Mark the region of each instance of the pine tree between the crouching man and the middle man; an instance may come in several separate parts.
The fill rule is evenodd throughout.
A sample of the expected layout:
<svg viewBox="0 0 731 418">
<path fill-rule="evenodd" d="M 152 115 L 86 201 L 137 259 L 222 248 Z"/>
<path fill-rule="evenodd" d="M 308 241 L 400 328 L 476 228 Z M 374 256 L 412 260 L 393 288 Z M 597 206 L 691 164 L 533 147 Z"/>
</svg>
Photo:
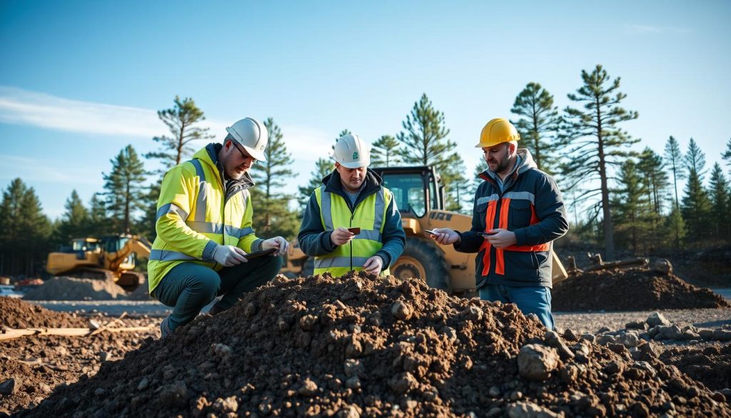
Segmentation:
<svg viewBox="0 0 731 418">
<path fill-rule="evenodd" d="M 298 231 L 297 213 L 289 210 L 292 196 L 277 193 L 291 181 L 292 156 L 281 129 L 272 118 L 264 121 L 269 131 L 269 143 L 265 149 L 265 161 L 251 168 L 251 176 L 257 186 L 251 189 L 251 204 L 254 206 L 254 228 L 260 236 L 285 236 L 293 238 Z"/>
</svg>

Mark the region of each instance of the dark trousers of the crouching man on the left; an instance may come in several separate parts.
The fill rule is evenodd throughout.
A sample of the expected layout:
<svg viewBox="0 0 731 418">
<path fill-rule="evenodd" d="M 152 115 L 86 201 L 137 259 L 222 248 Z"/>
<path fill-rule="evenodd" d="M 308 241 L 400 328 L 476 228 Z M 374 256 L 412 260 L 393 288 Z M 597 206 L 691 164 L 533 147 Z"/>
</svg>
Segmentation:
<svg viewBox="0 0 731 418">
<path fill-rule="evenodd" d="M 163 277 L 151 296 L 173 307 L 167 321 L 172 332 L 193 321 L 216 296 L 223 295 L 213 305 L 217 310 L 232 307 L 243 294 L 272 280 L 281 264 L 281 257 L 264 256 L 216 272 L 200 264 L 181 263 Z"/>
</svg>

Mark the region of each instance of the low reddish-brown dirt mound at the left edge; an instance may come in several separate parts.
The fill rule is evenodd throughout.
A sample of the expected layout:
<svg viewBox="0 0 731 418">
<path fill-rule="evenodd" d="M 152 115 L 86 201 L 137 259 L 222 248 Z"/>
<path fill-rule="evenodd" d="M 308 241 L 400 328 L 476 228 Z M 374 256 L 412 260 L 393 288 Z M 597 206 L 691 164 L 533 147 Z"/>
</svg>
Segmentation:
<svg viewBox="0 0 731 418">
<path fill-rule="evenodd" d="M 88 322 L 29 302 L 0 296 L 0 326 L 9 328 L 83 328 Z"/>
</svg>

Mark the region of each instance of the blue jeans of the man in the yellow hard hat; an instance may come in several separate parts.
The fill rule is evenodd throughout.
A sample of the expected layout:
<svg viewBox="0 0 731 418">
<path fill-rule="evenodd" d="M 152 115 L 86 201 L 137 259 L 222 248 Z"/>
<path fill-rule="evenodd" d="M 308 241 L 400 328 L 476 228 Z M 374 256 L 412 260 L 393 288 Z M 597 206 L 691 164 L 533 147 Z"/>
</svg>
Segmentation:
<svg viewBox="0 0 731 418">
<path fill-rule="evenodd" d="M 546 328 L 556 326 L 550 313 L 550 288 L 545 286 L 485 285 L 480 288 L 480 299 L 515 303 L 523 315 L 536 314 Z"/>
</svg>

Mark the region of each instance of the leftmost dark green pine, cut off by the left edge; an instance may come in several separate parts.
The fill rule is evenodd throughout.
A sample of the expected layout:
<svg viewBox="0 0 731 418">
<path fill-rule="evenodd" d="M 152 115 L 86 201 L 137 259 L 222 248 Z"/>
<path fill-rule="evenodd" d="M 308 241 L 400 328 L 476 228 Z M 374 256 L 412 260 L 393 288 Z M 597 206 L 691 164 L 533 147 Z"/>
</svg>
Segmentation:
<svg viewBox="0 0 731 418">
<path fill-rule="evenodd" d="M 37 275 L 50 250 L 51 228 L 33 187 L 12 180 L 0 204 L 0 274 Z"/>
</svg>

